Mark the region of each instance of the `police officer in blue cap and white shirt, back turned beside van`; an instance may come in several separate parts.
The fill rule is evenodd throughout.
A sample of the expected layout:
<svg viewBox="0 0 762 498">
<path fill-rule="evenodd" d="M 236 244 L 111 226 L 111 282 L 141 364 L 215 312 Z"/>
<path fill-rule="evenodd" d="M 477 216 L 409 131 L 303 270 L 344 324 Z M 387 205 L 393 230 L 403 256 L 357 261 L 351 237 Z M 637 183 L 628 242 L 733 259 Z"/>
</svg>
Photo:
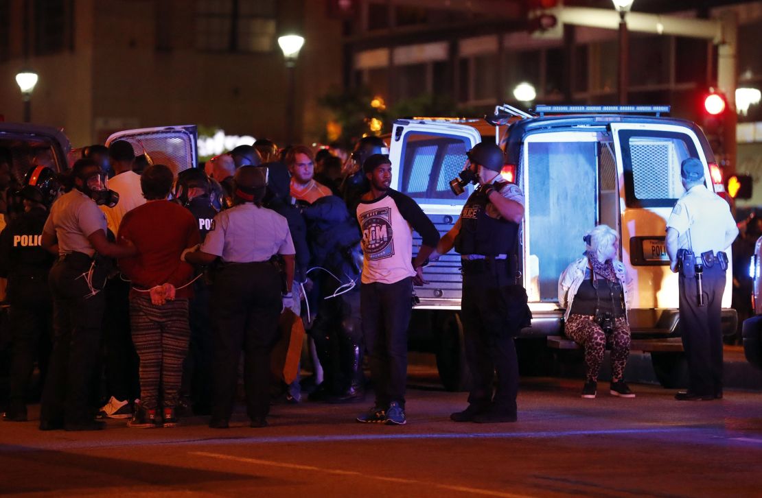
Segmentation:
<svg viewBox="0 0 762 498">
<path fill-rule="evenodd" d="M 725 200 L 706 188 L 704 165 L 687 158 L 680 165 L 686 192 L 667 220 L 670 268 L 679 272 L 680 330 L 688 360 L 688 390 L 678 401 L 722 398 L 722 292 L 728 257 L 738 235 Z"/>
</svg>

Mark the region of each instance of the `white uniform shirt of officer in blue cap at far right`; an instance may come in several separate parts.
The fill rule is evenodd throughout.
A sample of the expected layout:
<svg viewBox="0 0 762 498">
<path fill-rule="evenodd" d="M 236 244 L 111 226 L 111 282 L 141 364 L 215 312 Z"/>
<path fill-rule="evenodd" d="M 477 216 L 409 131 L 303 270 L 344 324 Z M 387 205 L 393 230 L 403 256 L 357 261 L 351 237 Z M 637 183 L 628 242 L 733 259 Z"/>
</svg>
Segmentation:
<svg viewBox="0 0 762 498">
<path fill-rule="evenodd" d="M 725 233 L 736 225 L 728 203 L 704 185 L 696 185 L 677 200 L 667 228 L 677 230 L 680 249 L 692 248 L 698 257 L 706 251 L 725 251 Z"/>
</svg>

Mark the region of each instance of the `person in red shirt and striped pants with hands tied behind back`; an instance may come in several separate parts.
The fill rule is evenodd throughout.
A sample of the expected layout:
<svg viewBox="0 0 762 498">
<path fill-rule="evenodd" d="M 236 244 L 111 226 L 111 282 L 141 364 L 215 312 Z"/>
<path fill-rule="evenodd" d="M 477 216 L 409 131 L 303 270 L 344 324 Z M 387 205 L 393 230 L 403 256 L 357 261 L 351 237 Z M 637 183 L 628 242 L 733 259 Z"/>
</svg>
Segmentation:
<svg viewBox="0 0 762 498">
<path fill-rule="evenodd" d="M 132 282 L 130 325 L 140 357 L 141 403 L 127 423 L 130 427 L 158 426 L 159 385 L 163 425 L 178 424 L 174 407 L 191 337 L 188 298 L 194 277 L 194 268 L 180 257 L 200 237 L 191 212 L 167 200 L 173 180 L 171 170 L 162 164 L 146 168 L 140 176 L 146 203 L 127 212 L 119 228 L 118 238 L 132 241 L 138 251 L 119 262 Z"/>
</svg>

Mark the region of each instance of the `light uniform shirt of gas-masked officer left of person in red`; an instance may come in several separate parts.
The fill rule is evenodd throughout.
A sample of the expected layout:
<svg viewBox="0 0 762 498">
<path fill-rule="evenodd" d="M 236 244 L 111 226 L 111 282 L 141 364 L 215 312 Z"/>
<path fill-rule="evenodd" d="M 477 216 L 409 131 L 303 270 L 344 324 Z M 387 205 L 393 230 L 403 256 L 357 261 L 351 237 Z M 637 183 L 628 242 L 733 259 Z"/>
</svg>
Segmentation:
<svg viewBox="0 0 762 498">
<path fill-rule="evenodd" d="M 92 257 L 95 249 L 88 236 L 106 231 L 106 215 L 98 204 L 77 189 L 63 194 L 53 203 L 43 233 L 58 238 L 59 254 L 80 252 Z"/>
</svg>

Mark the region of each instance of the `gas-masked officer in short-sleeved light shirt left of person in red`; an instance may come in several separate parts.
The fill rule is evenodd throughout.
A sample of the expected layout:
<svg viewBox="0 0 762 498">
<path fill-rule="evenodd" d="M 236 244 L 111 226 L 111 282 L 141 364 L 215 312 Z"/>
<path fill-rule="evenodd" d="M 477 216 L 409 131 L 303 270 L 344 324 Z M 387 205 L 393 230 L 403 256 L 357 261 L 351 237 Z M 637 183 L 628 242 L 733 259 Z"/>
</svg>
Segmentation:
<svg viewBox="0 0 762 498">
<path fill-rule="evenodd" d="M 96 264 L 136 253 L 129 241 L 106 238 L 106 216 L 98 205 L 114 206 L 118 194 L 108 190 L 105 174 L 92 159 L 72 168 L 75 188 L 50 208 L 42 244 L 58 260 L 48 281 L 53 294 L 53 353 L 40 408 L 40 429 L 95 430 L 91 379 L 100 346 L 107 273 Z"/>
</svg>

